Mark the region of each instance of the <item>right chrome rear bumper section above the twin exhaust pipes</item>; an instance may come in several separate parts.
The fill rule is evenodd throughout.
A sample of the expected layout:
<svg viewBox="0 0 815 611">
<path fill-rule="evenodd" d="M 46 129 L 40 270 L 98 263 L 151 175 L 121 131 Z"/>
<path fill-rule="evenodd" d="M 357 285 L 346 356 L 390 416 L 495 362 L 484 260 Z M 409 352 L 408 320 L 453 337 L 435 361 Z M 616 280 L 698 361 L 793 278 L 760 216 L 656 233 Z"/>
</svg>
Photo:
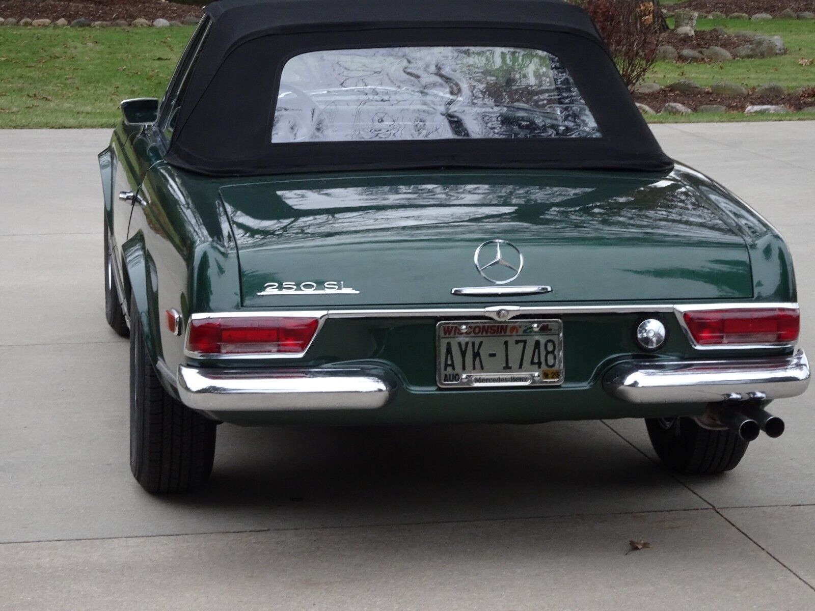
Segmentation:
<svg viewBox="0 0 815 611">
<path fill-rule="evenodd" d="M 804 350 L 793 356 L 718 361 L 628 361 L 606 373 L 603 387 L 631 403 L 711 403 L 796 397 L 809 385 Z"/>
</svg>

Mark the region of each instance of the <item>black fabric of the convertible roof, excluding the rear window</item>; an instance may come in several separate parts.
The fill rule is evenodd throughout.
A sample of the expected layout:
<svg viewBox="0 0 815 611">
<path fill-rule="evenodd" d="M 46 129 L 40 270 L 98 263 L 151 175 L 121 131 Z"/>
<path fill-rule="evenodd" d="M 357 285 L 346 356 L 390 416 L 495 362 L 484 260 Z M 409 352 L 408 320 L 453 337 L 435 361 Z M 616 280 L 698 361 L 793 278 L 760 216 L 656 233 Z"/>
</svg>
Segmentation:
<svg viewBox="0 0 815 611">
<path fill-rule="evenodd" d="M 430 167 L 672 168 L 592 20 L 562 0 L 219 0 L 166 155 L 199 174 Z M 271 143 L 286 61 L 377 46 L 504 45 L 548 51 L 571 73 L 602 138 Z"/>
</svg>

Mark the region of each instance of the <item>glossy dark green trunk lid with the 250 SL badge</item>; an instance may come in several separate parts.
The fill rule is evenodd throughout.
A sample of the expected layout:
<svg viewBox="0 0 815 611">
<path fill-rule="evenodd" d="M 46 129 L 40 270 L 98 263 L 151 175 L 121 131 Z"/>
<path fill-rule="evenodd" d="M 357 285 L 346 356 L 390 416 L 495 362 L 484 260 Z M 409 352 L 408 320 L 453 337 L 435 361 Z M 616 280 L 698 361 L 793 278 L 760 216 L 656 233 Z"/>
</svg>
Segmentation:
<svg viewBox="0 0 815 611">
<path fill-rule="evenodd" d="M 346 174 L 235 184 L 222 187 L 221 196 L 245 306 L 505 303 L 507 297 L 451 294 L 496 286 L 474 262 L 489 240 L 507 240 L 523 256 L 518 278 L 504 286 L 552 287 L 513 302 L 752 295 L 742 238 L 672 177 Z M 496 279 L 506 279 L 496 271 Z"/>
</svg>

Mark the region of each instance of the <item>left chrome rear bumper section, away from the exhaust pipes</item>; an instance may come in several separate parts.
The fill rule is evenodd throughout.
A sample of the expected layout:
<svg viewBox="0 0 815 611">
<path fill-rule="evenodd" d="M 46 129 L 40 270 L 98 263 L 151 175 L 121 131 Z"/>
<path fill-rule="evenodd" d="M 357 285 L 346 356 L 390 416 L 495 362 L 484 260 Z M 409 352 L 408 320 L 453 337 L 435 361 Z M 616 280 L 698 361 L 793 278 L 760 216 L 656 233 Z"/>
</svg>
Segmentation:
<svg viewBox="0 0 815 611">
<path fill-rule="evenodd" d="M 361 369 L 228 370 L 178 367 L 178 395 L 201 411 L 375 410 L 395 392 Z"/>
</svg>

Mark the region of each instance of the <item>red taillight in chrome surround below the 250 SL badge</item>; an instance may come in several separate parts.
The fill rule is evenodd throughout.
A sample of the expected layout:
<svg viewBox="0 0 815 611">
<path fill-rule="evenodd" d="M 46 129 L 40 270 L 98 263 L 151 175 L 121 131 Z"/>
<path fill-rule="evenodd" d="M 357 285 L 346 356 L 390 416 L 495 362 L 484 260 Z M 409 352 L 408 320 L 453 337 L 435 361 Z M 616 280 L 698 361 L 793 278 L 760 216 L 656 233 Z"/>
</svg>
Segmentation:
<svg viewBox="0 0 815 611">
<path fill-rule="evenodd" d="M 319 320 L 311 318 L 192 319 L 187 349 L 197 354 L 299 354 L 318 326 Z"/>
</svg>

